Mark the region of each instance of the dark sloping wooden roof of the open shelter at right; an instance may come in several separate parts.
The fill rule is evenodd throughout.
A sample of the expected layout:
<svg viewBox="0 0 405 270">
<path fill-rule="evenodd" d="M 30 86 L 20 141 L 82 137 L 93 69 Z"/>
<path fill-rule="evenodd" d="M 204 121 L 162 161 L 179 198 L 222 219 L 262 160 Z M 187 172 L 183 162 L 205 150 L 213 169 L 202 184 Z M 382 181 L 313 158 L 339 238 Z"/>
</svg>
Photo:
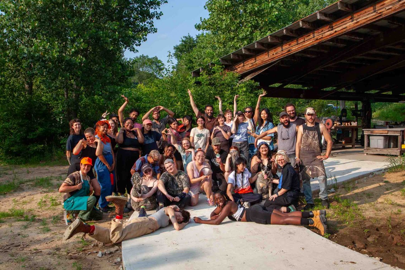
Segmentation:
<svg viewBox="0 0 405 270">
<path fill-rule="evenodd" d="M 220 63 L 271 97 L 404 101 L 405 1 L 341 0 Z"/>
</svg>

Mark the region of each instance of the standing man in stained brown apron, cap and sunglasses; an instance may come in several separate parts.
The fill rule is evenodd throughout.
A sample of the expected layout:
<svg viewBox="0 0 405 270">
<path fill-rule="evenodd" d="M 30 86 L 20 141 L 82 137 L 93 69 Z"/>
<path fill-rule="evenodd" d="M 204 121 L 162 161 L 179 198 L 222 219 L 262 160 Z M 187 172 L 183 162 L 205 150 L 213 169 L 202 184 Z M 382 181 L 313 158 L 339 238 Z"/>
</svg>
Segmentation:
<svg viewBox="0 0 405 270">
<path fill-rule="evenodd" d="M 326 182 L 326 172 L 324 160 L 328 159 L 332 151 L 332 138 L 326 130 L 324 124 L 315 122 L 316 113 L 311 107 L 305 110 L 306 124 L 298 127 L 297 143 L 295 152 L 297 155 L 296 163 L 301 164 L 300 178 L 303 181 L 305 200 L 307 205 L 304 210 L 311 210 L 313 203 L 311 178 L 317 178 L 319 181 L 319 197 L 322 200 L 322 206 L 328 208 L 328 188 Z M 324 136 L 328 145 L 325 155 L 322 155 L 322 136 Z"/>
</svg>

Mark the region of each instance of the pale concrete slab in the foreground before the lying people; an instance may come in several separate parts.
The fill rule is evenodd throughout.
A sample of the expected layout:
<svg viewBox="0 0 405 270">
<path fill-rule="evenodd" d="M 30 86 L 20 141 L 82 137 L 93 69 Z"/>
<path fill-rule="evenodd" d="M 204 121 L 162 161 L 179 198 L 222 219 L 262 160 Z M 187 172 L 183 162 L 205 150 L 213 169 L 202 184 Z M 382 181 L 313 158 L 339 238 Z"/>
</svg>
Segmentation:
<svg viewBox="0 0 405 270">
<path fill-rule="evenodd" d="M 214 209 L 200 195 L 191 216 Z M 294 225 L 262 225 L 226 218 L 221 225 L 189 223 L 122 242 L 125 269 L 394 269 Z"/>
</svg>

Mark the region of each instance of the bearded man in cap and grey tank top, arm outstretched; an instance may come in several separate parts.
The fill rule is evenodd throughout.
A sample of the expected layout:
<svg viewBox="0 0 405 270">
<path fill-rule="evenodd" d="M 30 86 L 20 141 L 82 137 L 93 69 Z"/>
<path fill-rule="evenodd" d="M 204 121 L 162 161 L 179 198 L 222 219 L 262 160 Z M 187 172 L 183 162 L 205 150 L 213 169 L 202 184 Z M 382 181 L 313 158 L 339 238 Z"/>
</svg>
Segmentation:
<svg viewBox="0 0 405 270">
<path fill-rule="evenodd" d="M 274 128 L 267 130 L 262 134 L 260 134 L 258 137 L 256 137 L 255 147 L 257 147 L 257 142 L 259 139 L 269 134 L 277 132 L 278 150 L 286 151 L 288 159 L 290 159 L 291 166 L 294 167 L 296 159 L 295 156 L 296 133 L 298 130 L 298 126 L 290 122 L 290 117 L 287 112 L 281 112 L 279 117 L 281 125 L 277 125 Z"/>
</svg>

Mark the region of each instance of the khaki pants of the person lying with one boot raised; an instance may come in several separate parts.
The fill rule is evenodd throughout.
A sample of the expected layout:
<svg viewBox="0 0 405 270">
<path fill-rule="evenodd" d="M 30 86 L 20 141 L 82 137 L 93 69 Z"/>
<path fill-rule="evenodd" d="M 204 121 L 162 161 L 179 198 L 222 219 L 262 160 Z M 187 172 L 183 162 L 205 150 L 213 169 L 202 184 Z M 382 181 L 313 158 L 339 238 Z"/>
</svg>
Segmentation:
<svg viewBox="0 0 405 270">
<path fill-rule="evenodd" d="M 100 226 L 95 227 L 94 234 L 89 236 L 103 243 L 119 243 L 159 229 L 158 222 L 149 217 L 137 217 L 125 223 L 122 219 L 114 218 L 111 220 L 111 230 Z"/>
</svg>

